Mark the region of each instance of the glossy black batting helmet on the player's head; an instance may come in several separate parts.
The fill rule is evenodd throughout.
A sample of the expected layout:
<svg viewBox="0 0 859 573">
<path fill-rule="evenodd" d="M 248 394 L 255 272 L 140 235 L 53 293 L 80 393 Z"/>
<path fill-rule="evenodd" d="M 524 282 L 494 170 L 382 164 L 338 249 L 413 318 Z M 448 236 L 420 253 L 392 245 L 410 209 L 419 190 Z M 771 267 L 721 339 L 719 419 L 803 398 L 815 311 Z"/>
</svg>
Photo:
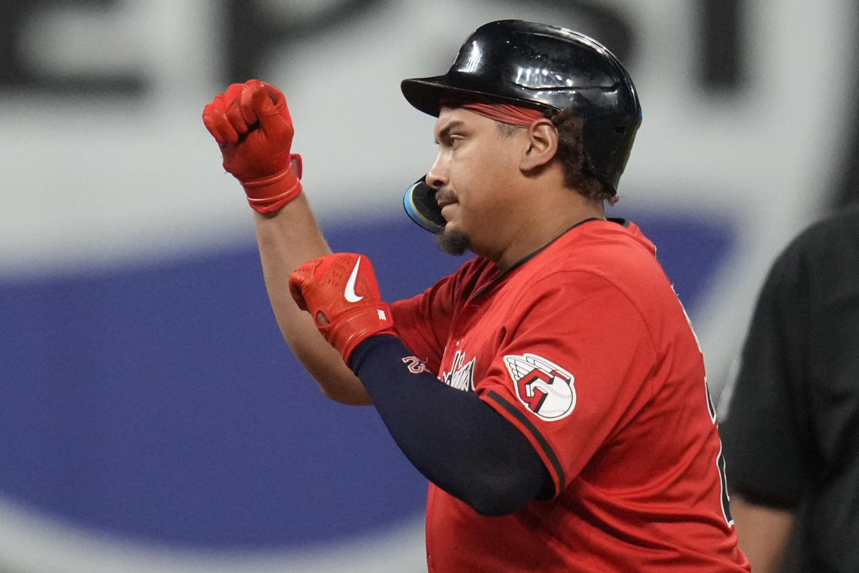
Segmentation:
<svg viewBox="0 0 859 573">
<path fill-rule="evenodd" d="M 605 46 L 563 27 L 484 24 L 444 76 L 403 80 L 405 99 L 437 116 L 442 94 L 478 94 L 537 109 L 569 107 L 582 120 L 588 171 L 617 192 L 642 110 L 632 79 Z"/>
</svg>

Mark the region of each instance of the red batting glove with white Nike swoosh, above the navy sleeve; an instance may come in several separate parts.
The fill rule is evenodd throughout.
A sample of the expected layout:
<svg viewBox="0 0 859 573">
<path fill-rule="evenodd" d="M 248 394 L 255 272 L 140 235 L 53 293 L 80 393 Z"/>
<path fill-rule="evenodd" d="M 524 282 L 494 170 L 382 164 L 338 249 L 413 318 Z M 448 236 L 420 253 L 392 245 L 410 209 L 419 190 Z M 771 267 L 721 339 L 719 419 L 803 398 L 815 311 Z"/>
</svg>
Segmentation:
<svg viewBox="0 0 859 573">
<path fill-rule="evenodd" d="M 289 275 L 289 293 L 314 317 L 347 366 L 365 338 L 396 334 L 391 310 L 381 302 L 373 265 L 359 254 L 336 253 L 305 263 Z"/>
</svg>

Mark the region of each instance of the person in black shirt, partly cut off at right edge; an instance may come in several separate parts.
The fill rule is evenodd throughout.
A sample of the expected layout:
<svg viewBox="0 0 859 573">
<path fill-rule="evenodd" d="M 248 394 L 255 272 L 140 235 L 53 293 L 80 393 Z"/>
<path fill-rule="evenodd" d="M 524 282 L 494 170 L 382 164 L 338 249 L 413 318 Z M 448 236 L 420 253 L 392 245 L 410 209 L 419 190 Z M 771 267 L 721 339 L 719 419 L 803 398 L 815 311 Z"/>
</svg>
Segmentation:
<svg viewBox="0 0 859 573">
<path fill-rule="evenodd" d="M 859 571 L 859 205 L 766 279 L 720 428 L 752 570 Z"/>
</svg>

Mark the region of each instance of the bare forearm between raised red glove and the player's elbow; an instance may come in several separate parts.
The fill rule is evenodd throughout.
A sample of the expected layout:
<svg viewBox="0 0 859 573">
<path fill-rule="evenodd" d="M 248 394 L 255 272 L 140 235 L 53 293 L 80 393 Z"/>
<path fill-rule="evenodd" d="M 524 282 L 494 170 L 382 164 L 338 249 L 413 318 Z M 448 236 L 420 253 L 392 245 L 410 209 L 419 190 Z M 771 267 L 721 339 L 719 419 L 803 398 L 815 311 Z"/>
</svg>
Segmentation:
<svg viewBox="0 0 859 573">
<path fill-rule="evenodd" d="M 331 253 L 304 193 L 271 214 L 254 212 L 265 288 L 283 338 L 322 393 L 344 404 L 370 404 L 369 394 L 317 330 L 310 314 L 289 296 L 289 273 Z"/>
</svg>

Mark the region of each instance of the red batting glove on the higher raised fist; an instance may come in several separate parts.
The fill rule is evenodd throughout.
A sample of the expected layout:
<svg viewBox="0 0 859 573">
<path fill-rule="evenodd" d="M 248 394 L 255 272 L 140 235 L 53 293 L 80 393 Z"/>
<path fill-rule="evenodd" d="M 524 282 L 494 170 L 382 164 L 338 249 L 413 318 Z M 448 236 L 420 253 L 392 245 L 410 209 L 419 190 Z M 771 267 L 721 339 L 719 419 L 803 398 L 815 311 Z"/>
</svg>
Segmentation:
<svg viewBox="0 0 859 573">
<path fill-rule="evenodd" d="M 295 129 L 279 89 L 259 80 L 234 83 L 204 107 L 203 123 L 253 209 L 279 210 L 302 192 L 302 156 L 289 154 Z"/>
</svg>

